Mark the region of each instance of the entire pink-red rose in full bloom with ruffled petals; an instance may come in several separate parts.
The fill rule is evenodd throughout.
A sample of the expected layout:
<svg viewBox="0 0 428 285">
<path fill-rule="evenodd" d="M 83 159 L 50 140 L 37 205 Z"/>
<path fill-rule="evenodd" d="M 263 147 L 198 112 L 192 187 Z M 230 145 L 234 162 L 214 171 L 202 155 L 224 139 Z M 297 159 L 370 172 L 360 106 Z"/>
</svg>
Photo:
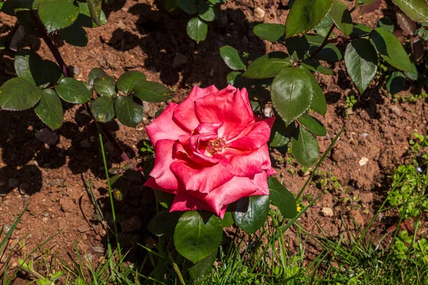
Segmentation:
<svg viewBox="0 0 428 285">
<path fill-rule="evenodd" d="M 222 217 L 242 197 L 269 195 L 267 140 L 275 118 L 255 118 L 245 88 L 195 86 L 147 126 L 155 166 L 145 186 L 175 195 L 170 211 Z"/>
</svg>

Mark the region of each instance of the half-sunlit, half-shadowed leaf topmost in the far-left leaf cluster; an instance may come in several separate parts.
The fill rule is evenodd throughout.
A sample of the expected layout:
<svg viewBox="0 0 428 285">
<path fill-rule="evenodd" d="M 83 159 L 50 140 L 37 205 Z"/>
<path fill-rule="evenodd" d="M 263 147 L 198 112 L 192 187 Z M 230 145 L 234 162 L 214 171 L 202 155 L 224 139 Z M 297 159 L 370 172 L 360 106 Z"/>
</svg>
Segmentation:
<svg viewBox="0 0 428 285">
<path fill-rule="evenodd" d="M 15 71 L 36 86 L 54 84 L 63 76 L 56 63 L 43 60 L 36 52 L 26 49 L 15 56 Z"/>
</svg>

